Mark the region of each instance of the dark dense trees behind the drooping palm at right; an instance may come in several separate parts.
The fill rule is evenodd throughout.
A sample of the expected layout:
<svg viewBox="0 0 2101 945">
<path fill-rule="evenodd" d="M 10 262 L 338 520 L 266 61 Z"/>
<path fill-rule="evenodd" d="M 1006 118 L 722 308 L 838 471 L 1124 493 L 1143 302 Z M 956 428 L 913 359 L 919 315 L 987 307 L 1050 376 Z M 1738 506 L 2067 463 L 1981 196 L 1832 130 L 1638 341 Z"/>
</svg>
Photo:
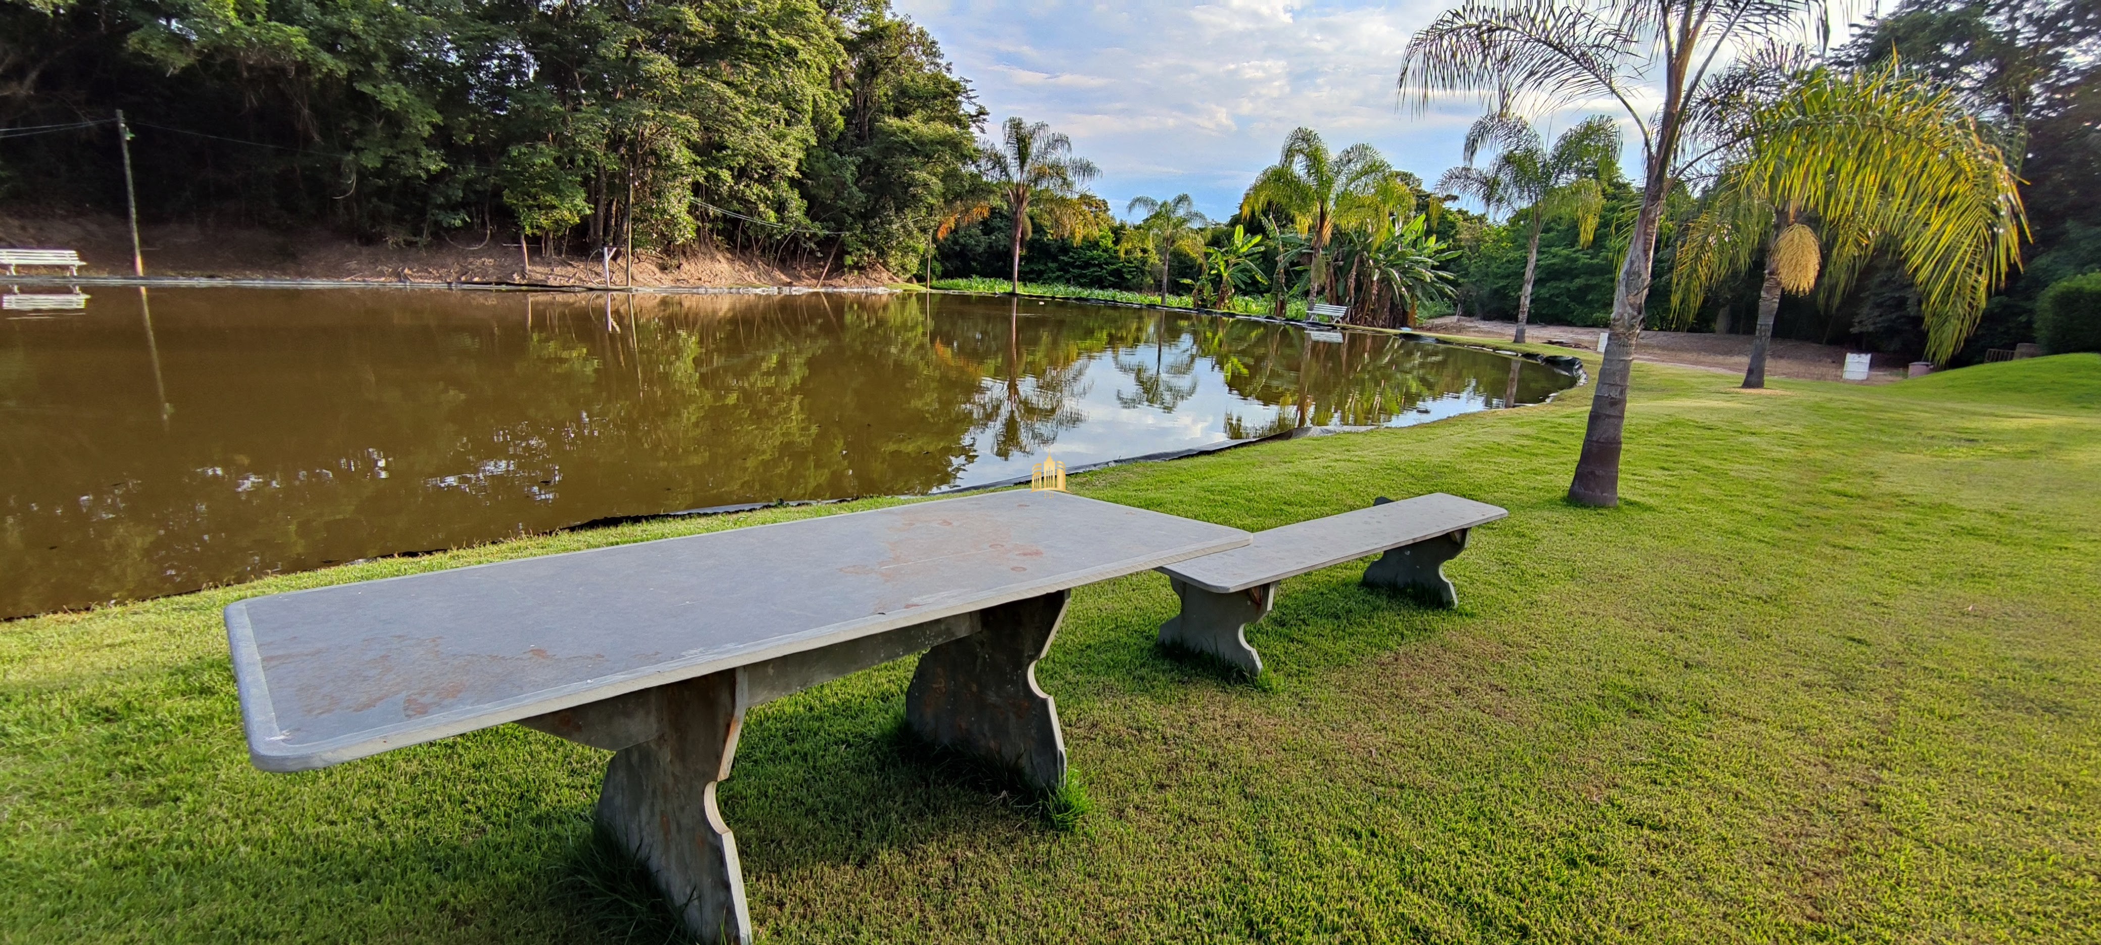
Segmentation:
<svg viewBox="0 0 2101 945">
<path fill-rule="evenodd" d="M 2036 340 L 2036 300 L 2067 277 L 2101 269 L 2101 6 L 2076 0 L 1906 0 L 1834 48 L 1840 69 L 1882 69 L 1897 63 L 1954 88 L 1979 116 L 1992 143 L 2015 164 L 2027 206 L 2032 242 L 2006 288 L 1992 296 L 1956 363 L 1983 359 L 1988 349 Z M 1607 183 L 1605 218 L 1628 216 L 1639 202 L 1624 181 Z M 1689 210 L 1685 200 L 1681 210 Z M 1511 212 L 1523 218 L 1527 208 Z M 1500 216 L 1500 214 L 1498 214 Z M 1677 220 L 1668 220 L 1677 223 Z M 1523 235 L 1490 225 L 1462 237 L 1460 307 L 1515 319 L 1523 279 Z M 1658 244 L 1658 290 L 1670 290 L 1677 246 Z M 1548 220 L 1540 239 L 1532 315 L 1538 321 L 1603 326 L 1622 246 L 1599 239 L 1584 248 L 1572 220 Z M 1752 330 L 1763 254 L 1708 292 L 1685 328 Z M 1651 307 L 1649 326 L 1672 323 Z M 1838 296 L 1786 296 L 1775 334 L 1817 342 L 1849 342 L 1872 351 L 1920 353 L 1927 326 L 1920 298 L 1904 267 L 1889 256 L 1866 265 Z"/>
</svg>

